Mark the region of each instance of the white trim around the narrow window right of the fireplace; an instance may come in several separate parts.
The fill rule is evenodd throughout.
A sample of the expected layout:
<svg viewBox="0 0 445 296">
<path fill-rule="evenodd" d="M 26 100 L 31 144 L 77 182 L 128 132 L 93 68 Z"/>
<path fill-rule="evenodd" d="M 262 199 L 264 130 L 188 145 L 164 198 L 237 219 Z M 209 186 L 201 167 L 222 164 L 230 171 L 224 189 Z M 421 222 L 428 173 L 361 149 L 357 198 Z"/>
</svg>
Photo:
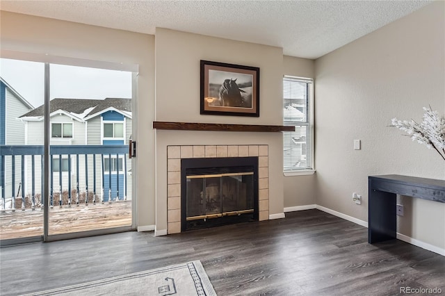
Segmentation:
<svg viewBox="0 0 445 296">
<path fill-rule="evenodd" d="M 314 122 L 314 79 L 300 76 L 291 76 L 291 75 L 283 75 L 283 83 L 285 78 L 296 79 L 299 81 L 307 81 L 309 83 L 309 122 L 302 122 L 303 124 L 295 124 L 309 126 L 309 131 L 311 133 L 310 145 L 311 145 L 311 167 L 312 168 L 304 168 L 299 170 L 284 170 L 284 156 L 283 156 L 283 175 L 284 176 L 303 176 L 303 175 L 311 175 L 316 172 L 315 167 L 315 122 Z M 283 85 L 284 88 L 284 85 Z M 284 103 L 284 92 L 282 95 L 282 100 Z M 284 123 L 284 114 L 283 114 L 283 123 Z M 283 133 L 286 133 L 285 131 Z M 283 143 L 283 152 L 284 152 L 284 143 Z"/>
</svg>

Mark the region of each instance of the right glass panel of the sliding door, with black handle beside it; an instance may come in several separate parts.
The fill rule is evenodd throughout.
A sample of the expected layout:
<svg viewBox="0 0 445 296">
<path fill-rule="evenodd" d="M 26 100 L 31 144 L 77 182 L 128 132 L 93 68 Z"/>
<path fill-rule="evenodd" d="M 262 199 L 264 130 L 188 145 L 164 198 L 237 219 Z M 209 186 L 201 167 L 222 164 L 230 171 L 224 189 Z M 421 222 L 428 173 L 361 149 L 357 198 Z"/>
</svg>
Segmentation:
<svg viewBox="0 0 445 296">
<path fill-rule="evenodd" d="M 131 72 L 49 73 L 49 235 L 131 227 Z"/>
</svg>

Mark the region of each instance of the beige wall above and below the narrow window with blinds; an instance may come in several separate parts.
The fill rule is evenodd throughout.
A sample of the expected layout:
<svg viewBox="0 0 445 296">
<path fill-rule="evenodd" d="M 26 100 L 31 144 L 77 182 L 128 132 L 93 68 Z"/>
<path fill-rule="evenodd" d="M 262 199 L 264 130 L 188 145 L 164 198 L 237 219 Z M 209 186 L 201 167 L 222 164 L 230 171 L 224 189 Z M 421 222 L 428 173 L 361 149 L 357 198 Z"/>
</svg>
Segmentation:
<svg viewBox="0 0 445 296">
<path fill-rule="evenodd" d="M 315 61 L 307 58 L 283 56 L 283 75 L 314 78 Z M 317 164 L 315 164 L 316 166 Z M 283 176 L 284 208 L 316 203 L 316 174 Z"/>
</svg>

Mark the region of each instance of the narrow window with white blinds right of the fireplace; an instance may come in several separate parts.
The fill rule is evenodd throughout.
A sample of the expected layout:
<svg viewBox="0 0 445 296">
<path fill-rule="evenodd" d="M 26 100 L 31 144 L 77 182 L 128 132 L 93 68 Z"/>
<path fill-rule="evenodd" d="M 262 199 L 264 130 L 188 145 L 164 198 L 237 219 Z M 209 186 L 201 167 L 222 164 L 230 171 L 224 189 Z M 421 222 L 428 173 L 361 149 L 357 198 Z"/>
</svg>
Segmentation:
<svg viewBox="0 0 445 296">
<path fill-rule="evenodd" d="M 312 79 L 284 76 L 283 124 L 295 126 L 295 131 L 283 132 L 284 172 L 314 170 L 312 90 Z"/>
</svg>

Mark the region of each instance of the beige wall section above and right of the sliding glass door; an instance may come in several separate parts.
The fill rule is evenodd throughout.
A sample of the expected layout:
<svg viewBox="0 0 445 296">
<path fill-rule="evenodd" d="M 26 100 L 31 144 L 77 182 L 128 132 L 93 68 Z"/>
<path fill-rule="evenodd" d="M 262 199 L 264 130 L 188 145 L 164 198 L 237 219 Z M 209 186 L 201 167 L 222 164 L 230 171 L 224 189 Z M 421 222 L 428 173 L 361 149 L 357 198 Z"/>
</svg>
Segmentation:
<svg viewBox="0 0 445 296">
<path fill-rule="evenodd" d="M 138 224 L 154 224 L 154 36 L 5 11 L 0 24 L 2 50 L 139 65 Z"/>
</svg>

